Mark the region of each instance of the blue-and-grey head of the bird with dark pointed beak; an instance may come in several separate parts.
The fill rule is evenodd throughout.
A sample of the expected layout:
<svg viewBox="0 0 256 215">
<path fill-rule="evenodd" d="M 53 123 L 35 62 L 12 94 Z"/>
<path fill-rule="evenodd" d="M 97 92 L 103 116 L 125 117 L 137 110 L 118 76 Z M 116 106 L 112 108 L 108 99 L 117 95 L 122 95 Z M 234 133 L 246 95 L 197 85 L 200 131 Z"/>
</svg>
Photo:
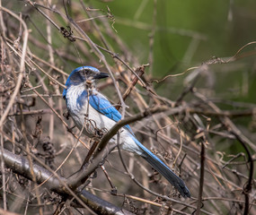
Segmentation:
<svg viewBox="0 0 256 215">
<path fill-rule="evenodd" d="M 66 80 L 66 89 L 63 90 L 63 98 L 66 97 L 66 90 L 75 85 L 79 85 L 81 83 L 91 83 L 95 80 L 107 78 L 109 77 L 108 73 L 102 73 L 98 69 L 94 68 L 93 66 L 80 66 L 70 73 Z"/>
</svg>

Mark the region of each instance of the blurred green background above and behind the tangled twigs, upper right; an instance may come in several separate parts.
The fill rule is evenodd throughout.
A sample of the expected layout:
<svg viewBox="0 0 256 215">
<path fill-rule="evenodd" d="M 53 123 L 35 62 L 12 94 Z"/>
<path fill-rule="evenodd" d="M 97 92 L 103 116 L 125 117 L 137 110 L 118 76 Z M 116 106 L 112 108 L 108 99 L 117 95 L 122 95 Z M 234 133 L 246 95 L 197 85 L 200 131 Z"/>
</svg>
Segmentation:
<svg viewBox="0 0 256 215">
<path fill-rule="evenodd" d="M 234 56 L 243 45 L 255 40 L 256 35 L 256 2 L 253 0 L 118 0 L 86 4 L 105 11 L 110 7 L 119 37 L 141 64 L 148 63 L 150 36 L 153 36 L 151 69 L 153 77 L 158 79 L 182 73 L 214 56 Z M 255 44 L 245 47 L 243 52 L 253 50 Z M 212 88 L 213 96 L 217 93 L 223 99 L 255 103 L 255 68 L 255 56 L 246 56 L 228 65 L 214 65 L 211 81 L 201 82 L 201 87 Z M 175 99 L 183 88 L 183 81 L 184 75 L 165 81 L 172 86 L 169 95 L 164 91 L 164 96 Z"/>
</svg>

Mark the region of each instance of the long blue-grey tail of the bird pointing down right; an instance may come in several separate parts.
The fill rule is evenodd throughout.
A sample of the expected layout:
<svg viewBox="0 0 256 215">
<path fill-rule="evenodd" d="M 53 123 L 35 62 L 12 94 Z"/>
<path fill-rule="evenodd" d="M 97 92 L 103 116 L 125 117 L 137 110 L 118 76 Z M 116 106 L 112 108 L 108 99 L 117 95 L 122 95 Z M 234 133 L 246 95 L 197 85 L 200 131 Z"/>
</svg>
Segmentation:
<svg viewBox="0 0 256 215">
<path fill-rule="evenodd" d="M 146 147 L 137 141 L 134 138 L 137 146 L 143 150 L 142 157 L 146 159 L 146 161 L 162 176 L 164 176 L 170 183 L 173 185 L 183 197 L 190 197 L 190 190 L 185 185 L 181 177 L 177 176 L 172 172 L 170 168 L 168 168 L 161 159 L 158 159 L 150 150 L 146 149 Z"/>
</svg>

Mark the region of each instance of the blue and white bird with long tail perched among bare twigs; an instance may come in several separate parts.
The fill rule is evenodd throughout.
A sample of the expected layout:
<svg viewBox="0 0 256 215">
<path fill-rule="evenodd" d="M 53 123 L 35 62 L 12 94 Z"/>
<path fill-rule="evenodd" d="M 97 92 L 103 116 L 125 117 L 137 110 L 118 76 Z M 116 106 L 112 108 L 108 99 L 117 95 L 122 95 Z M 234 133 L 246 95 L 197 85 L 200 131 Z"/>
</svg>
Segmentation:
<svg viewBox="0 0 256 215">
<path fill-rule="evenodd" d="M 88 137 L 107 130 L 121 120 L 121 114 L 110 101 L 96 89 L 95 81 L 109 77 L 93 66 L 80 66 L 70 73 L 66 79 L 66 89 L 63 99 L 69 116 L 72 117 L 78 129 Z M 84 123 L 86 121 L 86 123 Z M 110 142 L 117 142 L 118 135 L 114 135 Z M 162 176 L 164 176 L 184 198 L 190 198 L 190 190 L 181 177 L 177 176 L 161 159 L 148 150 L 132 132 L 129 125 L 125 125 L 119 132 L 119 146 L 121 150 L 133 152 L 141 156 Z"/>
</svg>

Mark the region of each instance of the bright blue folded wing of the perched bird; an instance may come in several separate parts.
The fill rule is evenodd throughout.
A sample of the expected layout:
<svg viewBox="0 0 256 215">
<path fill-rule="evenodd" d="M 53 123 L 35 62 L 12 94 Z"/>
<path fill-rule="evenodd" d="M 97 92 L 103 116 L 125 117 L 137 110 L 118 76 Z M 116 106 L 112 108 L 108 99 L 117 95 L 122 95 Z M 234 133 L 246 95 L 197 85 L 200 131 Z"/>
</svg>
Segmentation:
<svg viewBox="0 0 256 215">
<path fill-rule="evenodd" d="M 114 120 L 115 122 L 119 122 L 119 120 L 121 120 L 122 116 L 119 111 L 115 107 L 113 107 L 110 101 L 102 96 L 100 93 L 97 93 L 96 95 L 90 95 L 89 104 L 94 109 L 102 113 L 102 115 L 109 117 L 111 120 Z M 133 134 L 129 125 L 125 125 L 124 127 Z"/>
</svg>

